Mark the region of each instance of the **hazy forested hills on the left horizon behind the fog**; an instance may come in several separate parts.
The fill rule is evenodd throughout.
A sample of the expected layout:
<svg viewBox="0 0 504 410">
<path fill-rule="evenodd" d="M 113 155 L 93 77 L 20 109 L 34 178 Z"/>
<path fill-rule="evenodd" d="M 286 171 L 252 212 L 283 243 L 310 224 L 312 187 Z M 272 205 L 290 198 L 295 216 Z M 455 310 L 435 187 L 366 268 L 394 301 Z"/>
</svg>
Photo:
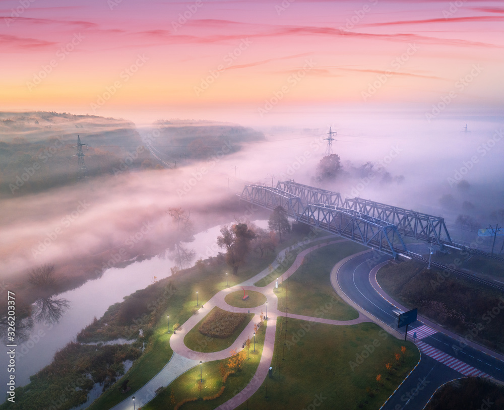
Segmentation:
<svg viewBox="0 0 504 410">
<path fill-rule="evenodd" d="M 236 143 L 264 140 L 250 128 L 208 121 L 162 121 L 153 125 L 161 158 L 172 167 L 239 150 Z M 23 195 L 77 179 L 77 135 L 87 177 L 162 169 L 131 121 L 55 112 L 0 113 L 0 193 Z M 232 144 L 232 145 L 231 145 Z M 222 149 L 222 147 L 228 147 Z M 166 158 L 164 158 L 166 157 Z"/>
</svg>

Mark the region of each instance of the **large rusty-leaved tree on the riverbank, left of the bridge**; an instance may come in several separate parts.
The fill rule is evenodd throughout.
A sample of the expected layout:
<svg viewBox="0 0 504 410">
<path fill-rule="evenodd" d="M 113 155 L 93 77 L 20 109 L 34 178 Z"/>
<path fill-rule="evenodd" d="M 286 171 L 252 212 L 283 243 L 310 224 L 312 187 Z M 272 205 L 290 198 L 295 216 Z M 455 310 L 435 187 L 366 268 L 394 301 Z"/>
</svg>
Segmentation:
<svg viewBox="0 0 504 410">
<path fill-rule="evenodd" d="M 233 268 L 233 274 L 238 273 L 238 267 L 244 262 L 250 251 L 250 242 L 256 234 L 248 228 L 246 223 L 223 227 L 221 236 L 217 237 L 217 245 L 226 248 L 226 262 Z"/>
</svg>

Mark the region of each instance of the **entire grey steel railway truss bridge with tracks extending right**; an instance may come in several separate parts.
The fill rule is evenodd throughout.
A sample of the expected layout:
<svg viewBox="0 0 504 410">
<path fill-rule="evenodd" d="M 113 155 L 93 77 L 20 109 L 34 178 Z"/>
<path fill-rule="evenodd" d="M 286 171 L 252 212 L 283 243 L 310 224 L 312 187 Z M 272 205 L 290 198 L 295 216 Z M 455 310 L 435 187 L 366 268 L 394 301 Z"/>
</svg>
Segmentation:
<svg viewBox="0 0 504 410">
<path fill-rule="evenodd" d="M 403 256 L 427 262 L 421 255 L 408 250 L 403 237 L 412 237 L 433 243 L 442 249 L 445 246 L 464 249 L 504 262 L 504 259 L 497 255 L 453 242 L 442 217 L 368 199 L 342 198 L 338 192 L 299 184 L 292 180 L 278 182 L 276 187 L 247 184 L 240 199 L 269 210 L 281 206 L 289 218 L 390 254 L 394 258 Z M 475 280 L 474 275 L 456 268 L 434 262 L 431 262 L 431 265 Z M 504 286 L 495 282 L 480 278 L 477 280 L 504 291 Z"/>
</svg>

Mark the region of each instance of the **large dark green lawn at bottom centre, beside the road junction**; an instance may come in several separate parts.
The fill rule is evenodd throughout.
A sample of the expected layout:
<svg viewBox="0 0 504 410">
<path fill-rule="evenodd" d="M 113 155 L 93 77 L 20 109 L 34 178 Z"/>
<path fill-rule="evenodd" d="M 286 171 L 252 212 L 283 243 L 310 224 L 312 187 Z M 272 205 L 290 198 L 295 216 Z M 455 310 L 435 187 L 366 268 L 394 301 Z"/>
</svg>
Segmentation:
<svg viewBox="0 0 504 410">
<path fill-rule="evenodd" d="M 396 339 L 374 323 L 316 323 L 310 329 L 308 324 L 277 319 L 273 377 L 267 377 L 238 409 L 303 408 L 310 404 L 314 408 L 322 403 L 322 408 L 376 410 L 419 360 L 412 343 Z M 404 354 L 401 346 L 406 347 Z M 400 362 L 395 353 L 401 354 Z M 390 373 L 387 363 L 392 364 Z M 378 374 L 381 384 L 376 381 Z"/>
</svg>

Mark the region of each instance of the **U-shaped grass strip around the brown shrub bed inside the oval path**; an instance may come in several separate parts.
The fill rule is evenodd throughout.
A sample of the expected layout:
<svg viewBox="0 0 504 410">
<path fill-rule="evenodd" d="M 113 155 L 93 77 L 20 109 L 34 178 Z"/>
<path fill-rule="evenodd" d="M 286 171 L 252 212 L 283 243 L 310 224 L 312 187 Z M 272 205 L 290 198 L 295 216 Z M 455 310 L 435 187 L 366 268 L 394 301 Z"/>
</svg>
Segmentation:
<svg viewBox="0 0 504 410">
<path fill-rule="evenodd" d="M 199 332 L 199 328 L 202 323 L 207 320 L 209 316 L 212 315 L 216 309 L 222 311 L 217 306 L 214 307 L 195 327 L 193 327 L 184 337 L 184 344 L 189 349 L 194 350 L 195 352 L 219 352 L 221 350 L 227 349 L 230 347 L 236 338 L 240 335 L 243 329 L 247 326 L 247 324 L 254 317 L 253 313 L 246 314 L 243 313 L 244 320 L 240 323 L 240 325 L 234 330 L 234 332 L 226 338 L 218 338 L 218 337 L 210 337 Z M 233 313 L 236 314 L 236 313 Z"/>
</svg>

